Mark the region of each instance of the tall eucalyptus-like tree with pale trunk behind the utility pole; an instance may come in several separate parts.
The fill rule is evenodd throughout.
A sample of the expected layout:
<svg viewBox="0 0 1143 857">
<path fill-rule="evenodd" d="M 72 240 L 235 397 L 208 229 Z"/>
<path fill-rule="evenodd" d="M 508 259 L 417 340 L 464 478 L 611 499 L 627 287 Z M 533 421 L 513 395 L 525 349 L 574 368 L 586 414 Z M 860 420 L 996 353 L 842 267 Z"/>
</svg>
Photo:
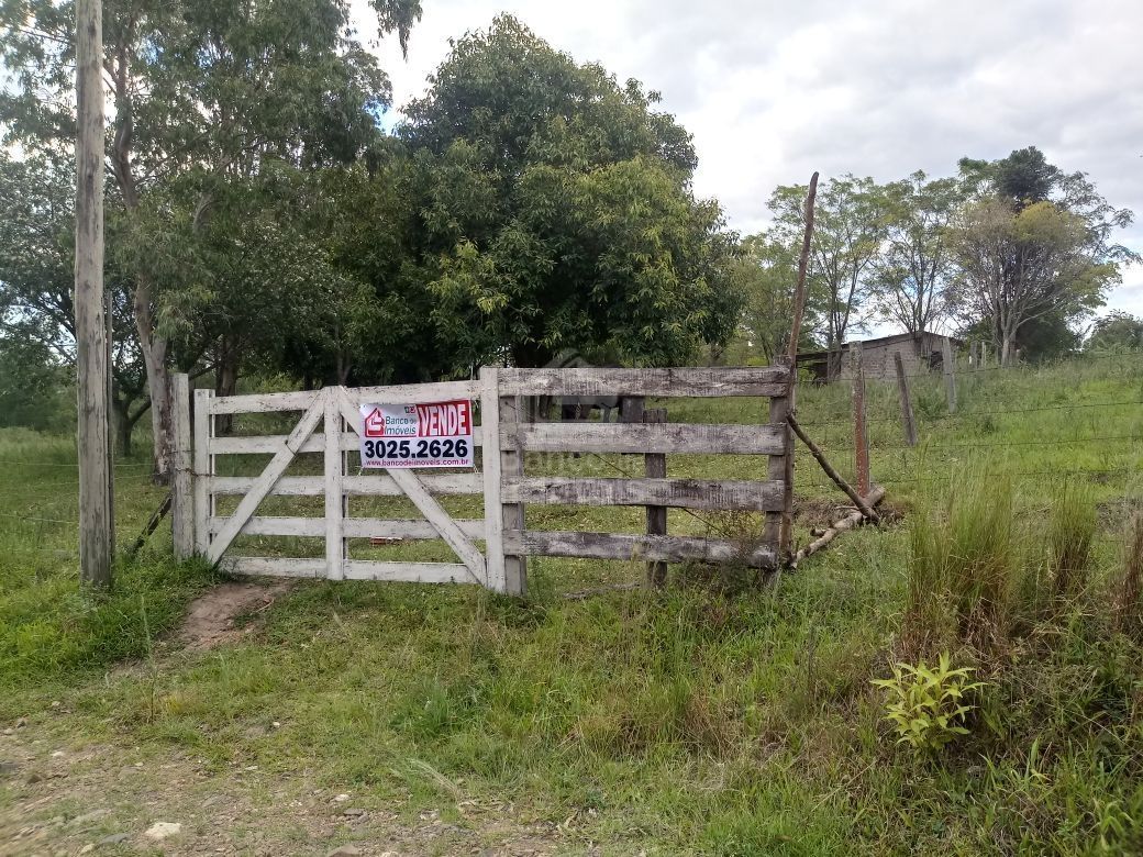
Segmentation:
<svg viewBox="0 0 1143 857">
<path fill-rule="evenodd" d="M 402 46 L 418 0 L 374 0 L 382 32 Z M 65 151 L 73 136 L 70 0 L 0 3 L 0 57 L 15 70 L 0 96 L 8 142 Z M 357 158 L 378 137 L 389 82 L 350 27 L 345 0 L 216 3 L 112 0 L 104 6 L 104 71 L 115 114 L 109 159 L 131 240 L 165 183 L 200 174 L 214 183 L 256 175 L 267 158 L 319 165 Z M 216 203 L 211 181 L 178 224 L 194 230 Z M 168 243 L 168 246 L 171 246 Z M 127 272 L 151 394 L 157 474 L 169 475 L 171 363 L 168 322 L 193 304 L 167 286 L 158 257 L 135 254 Z"/>
</svg>

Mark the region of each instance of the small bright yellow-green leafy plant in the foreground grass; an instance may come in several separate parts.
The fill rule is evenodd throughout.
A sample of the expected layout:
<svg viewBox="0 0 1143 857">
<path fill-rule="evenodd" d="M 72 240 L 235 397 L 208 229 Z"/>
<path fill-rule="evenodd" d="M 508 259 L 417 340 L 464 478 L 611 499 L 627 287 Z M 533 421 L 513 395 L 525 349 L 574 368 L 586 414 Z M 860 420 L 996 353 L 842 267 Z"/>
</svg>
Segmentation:
<svg viewBox="0 0 1143 857">
<path fill-rule="evenodd" d="M 984 682 L 970 682 L 972 668 L 953 670 L 949 654 L 942 652 L 930 668 L 924 660 L 893 664 L 892 679 L 874 679 L 873 684 L 887 694 L 885 719 L 893 723 L 898 744 L 913 750 L 936 752 L 958 735 L 968 735 L 965 716 L 976 706 L 965 697 Z"/>
</svg>

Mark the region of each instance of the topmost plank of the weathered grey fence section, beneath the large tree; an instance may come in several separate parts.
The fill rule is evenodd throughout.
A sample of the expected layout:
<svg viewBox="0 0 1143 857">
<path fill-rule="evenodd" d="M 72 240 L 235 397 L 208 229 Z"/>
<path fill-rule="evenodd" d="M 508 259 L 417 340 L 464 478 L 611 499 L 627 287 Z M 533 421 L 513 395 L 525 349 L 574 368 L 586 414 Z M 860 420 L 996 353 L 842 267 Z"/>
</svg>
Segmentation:
<svg viewBox="0 0 1143 857">
<path fill-rule="evenodd" d="M 678 369 L 501 369 L 499 378 L 502 397 L 769 397 L 785 395 L 790 371 L 784 366 Z"/>
</svg>

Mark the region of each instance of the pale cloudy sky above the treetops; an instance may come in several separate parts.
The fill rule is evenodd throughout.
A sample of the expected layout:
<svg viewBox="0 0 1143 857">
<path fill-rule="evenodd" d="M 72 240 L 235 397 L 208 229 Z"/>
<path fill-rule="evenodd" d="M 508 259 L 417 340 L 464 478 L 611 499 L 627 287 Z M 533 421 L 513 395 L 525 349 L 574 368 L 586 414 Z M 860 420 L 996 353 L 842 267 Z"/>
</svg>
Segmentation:
<svg viewBox="0 0 1143 857">
<path fill-rule="evenodd" d="M 365 21 L 363 0 L 359 19 Z M 448 39 L 507 11 L 578 62 L 663 95 L 695 137 L 696 191 L 743 232 L 778 184 L 956 170 L 962 155 L 1037 145 L 1090 174 L 1141 223 L 1140 0 L 422 0 L 402 61 L 377 48 L 395 104 L 421 95 Z M 362 26 L 362 31 L 366 26 Z M 1143 266 L 1111 309 L 1143 314 Z"/>
</svg>

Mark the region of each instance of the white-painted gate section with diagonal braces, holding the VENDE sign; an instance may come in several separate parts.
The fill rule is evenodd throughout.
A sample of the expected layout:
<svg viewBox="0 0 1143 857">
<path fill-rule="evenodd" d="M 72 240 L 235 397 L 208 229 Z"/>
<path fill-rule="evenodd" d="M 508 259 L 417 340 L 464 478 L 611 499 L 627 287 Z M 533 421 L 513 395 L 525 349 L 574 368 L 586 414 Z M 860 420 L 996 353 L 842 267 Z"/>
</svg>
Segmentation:
<svg viewBox="0 0 1143 857">
<path fill-rule="evenodd" d="M 419 405 L 479 395 L 478 382 L 447 382 L 390 387 L 341 386 L 318 391 L 218 398 L 209 390 L 194 391 L 193 552 L 232 574 L 287 577 L 325 577 L 334 580 L 409 580 L 472 583 L 505 591 L 503 562 L 488 563 L 478 540 L 488 537 L 483 520 L 454 520 L 439 495 L 482 495 L 480 472 L 422 472 L 385 468 L 352 475 L 346 452 L 357 450 L 361 432 L 360 405 L 365 402 Z M 215 418 L 223 414 L 299 411 L 288 435 L 217 436 Z M 495 423 L 495 421 L 491 421 Z M 477 446 L 491 424 L 475 428 Z M 179 434 L 176 432 L 176 434 Z M 493 449 L 496 448 L 494 441 Z M 299 454 L 321 452 L 321 474 L 285 475 Z M 217 475 L 222 456 L 272 454 L 256 475 Z M 231 514 L 218 512 L 218 498 L 241 499 Z M 272 496 L 325 497 L 321 518 L 259 516 L 259 505 Z M 423 519 L 351 518 L 350 497 L 403 496 Z M 498 529 L 498 528 L 494 528 Z M 240 535 L 310 536 L 325 539 L 325 556 L 242 556 L 231 550 Z M 442 539 L 456 562 L 386 562 L 347 555 L 350 538 Z M 494 534 L 495 537 L 495 534 Z M 498 571 L 498 574 L 497 574 Z"/>
</svg>

